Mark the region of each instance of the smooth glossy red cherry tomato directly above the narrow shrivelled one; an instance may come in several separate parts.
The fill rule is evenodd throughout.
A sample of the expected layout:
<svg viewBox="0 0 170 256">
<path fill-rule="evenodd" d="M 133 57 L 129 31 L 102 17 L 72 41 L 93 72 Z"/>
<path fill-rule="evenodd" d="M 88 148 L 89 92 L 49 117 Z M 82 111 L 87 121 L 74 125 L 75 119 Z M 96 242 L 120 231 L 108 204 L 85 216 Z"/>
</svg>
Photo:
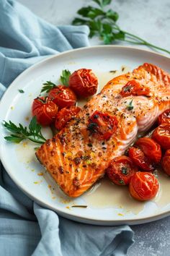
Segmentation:
<svg viewBox="0 0 170 256">
<path fill-rule="evenodd" d="M 143 137 L 135 142 L 144 155 L 149 158 L 153 163 L 159 163 L 161 161 L 161 147 L 154 140 L 148 137 Z"/>
</svg>

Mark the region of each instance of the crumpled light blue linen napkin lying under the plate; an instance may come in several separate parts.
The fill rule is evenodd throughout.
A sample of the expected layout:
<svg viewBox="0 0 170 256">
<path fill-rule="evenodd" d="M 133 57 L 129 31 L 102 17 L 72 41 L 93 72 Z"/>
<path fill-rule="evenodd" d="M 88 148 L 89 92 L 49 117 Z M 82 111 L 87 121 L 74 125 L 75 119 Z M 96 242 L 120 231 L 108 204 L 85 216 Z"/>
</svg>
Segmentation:
<svg viewBox="0 0 170 256">
<path fill-rule="evenodd" d="M 88 27 L 55 27 L 12 0 L 0 0 L 0 97 L 24 69 L 51 54 L 89 46 Z M 0 255 L 125 255 L 129 226 L 76 223 L 37 205 L 0 163 Z"/>
</svg>

